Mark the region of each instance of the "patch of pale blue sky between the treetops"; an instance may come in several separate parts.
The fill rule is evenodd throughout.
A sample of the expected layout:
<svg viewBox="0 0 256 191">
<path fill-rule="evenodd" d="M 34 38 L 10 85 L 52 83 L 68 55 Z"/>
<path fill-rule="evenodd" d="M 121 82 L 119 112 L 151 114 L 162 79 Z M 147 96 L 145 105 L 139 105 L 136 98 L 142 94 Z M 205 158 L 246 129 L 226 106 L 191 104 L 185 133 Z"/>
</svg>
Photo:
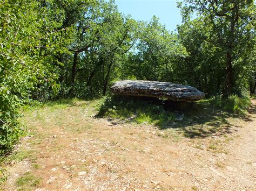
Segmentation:
<svg viewBox="0 0 256 191">
<path fill-rule="evenodd" d="M 136 20 L 149 21 L 155 15 L 169 31 L 174 31 L 181 24 L 176 0 L 116 0 L 116 4 L 120 12 Z"/>
</svg>

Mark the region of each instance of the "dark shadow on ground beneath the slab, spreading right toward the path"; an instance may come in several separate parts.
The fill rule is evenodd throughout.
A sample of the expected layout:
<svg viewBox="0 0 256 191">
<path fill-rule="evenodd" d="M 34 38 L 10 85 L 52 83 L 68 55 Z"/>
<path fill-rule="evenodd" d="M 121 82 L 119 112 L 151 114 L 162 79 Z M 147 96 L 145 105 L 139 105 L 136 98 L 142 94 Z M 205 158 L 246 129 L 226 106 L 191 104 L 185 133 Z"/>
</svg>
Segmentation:
<svg viewBox="0 0 256 191">
<path fill-rule="evenodd" d="M 255 113 L 253 105 L 249 112 Z M 105 117 L 113 124 L 136 122 L 153 124 L 159 129 L 176 129 L 185 137 L 221 136 L 231 133 L 227 118 L 251 121 L 246 114 L 233 114 L 214 107 L 211 100 L 171 102 L 149 97 L 107 97 L 96 117 Z"/>
</svg>

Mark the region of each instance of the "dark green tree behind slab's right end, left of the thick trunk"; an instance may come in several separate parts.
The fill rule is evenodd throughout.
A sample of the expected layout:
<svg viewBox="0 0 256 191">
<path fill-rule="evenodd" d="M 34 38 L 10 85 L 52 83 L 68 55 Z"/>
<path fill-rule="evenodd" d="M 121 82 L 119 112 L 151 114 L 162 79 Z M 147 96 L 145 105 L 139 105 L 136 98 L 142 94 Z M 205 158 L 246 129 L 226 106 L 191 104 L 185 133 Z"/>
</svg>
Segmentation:
<svg viewBox="0 0 256 191">
<path fill-rule="evenodd" d="M 181 62 L 180 70 L 177 70 L 179 76 L 207 95 L 221 93 L 226 85 L 223 49 L 207 41 L 210 34 L 200 18 L 178 26 L 178 33 L 188 53 Z"/>
</svg>

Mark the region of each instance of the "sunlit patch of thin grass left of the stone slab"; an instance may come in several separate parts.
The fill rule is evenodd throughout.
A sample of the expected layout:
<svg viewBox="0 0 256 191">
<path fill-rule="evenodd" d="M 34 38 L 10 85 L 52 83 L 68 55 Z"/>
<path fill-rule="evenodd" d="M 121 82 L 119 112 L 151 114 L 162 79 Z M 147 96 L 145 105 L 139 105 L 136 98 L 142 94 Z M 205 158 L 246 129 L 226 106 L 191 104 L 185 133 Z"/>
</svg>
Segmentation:
<svg viewBox="0 0 256 191">
<path fill-rule="evenodd" d="M 74 133 L 82 133 L 92 128 L 90 124 L 85 125 L 84 122 L 87 117 L 96 115 L 97 105 L 100 101 L 102 99 L 91 101 L 78 100 L 77 98 L 61 99 L 29 108 L 25 111 L 25 118 L 23 118 L 22 123 L 29 127 L 30 135 L 34 136 L 31 144 L 40 144 L 44 138 L 51 136 L 48 129 L 52 126 L 58 126 L 63 131 L 67 130 Z M 49 122 L 51 122 L 50 125 Z M 40 135 L 36 132 L 38 127 L 45 129 Z"/>
</svg>

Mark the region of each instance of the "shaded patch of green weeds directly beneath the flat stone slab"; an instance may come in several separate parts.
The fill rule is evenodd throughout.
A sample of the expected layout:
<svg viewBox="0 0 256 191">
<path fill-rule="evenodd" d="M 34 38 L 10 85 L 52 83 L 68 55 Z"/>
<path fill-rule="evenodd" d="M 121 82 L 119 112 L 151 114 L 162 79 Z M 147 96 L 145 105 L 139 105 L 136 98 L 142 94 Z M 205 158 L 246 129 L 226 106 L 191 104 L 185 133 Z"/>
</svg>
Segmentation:
<svg viewBox="0 0 256 191">
<path fill-rule="evenodd" d="M 144 97 L 106 97 L 98 110 L 98 117 L 118 118 L 157 126 L 163 126 L 175 119 L 173 112 L 165 109 L 163 101 Z"/>
</svg>

